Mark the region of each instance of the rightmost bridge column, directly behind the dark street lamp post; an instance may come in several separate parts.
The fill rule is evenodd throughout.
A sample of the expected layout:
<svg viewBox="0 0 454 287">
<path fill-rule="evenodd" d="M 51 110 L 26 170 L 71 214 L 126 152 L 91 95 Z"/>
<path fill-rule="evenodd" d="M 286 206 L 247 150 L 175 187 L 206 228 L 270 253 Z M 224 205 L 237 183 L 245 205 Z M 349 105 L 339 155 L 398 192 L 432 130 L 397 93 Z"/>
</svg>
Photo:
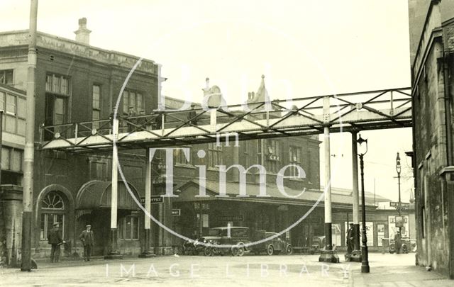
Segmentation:
<svg viewBox="0 0 454 287">
<path fill-rule="evenodd" d="M 361 262 L 360 250 L 360 196 L 358 188 L 358 144 L 356 142 L 357 133 L 352 132 L 352 172 L 353 172 L 353 252 L 350 254 L 350 261 Z"/>
</svg>

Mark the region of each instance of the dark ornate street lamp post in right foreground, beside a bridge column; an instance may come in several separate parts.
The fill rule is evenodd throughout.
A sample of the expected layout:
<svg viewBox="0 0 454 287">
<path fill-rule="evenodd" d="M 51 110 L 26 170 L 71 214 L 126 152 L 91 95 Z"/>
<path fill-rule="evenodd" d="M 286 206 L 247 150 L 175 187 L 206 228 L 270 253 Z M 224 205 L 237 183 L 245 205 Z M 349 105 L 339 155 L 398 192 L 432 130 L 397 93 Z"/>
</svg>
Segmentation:
<svg viewBox="0 0 454 287">
<path fill-rule="evenodd" d="M 361 135 L 356 142 L 360 146 L 360 171 L 361 171 L 361 203 L 362 203 L 362 246 L 361 246 L 361 273 L 369 273 L 369 259 L 367 252 L 367 237 L 366 237 L 366 203 L 364 192 L 364 160 L 363 157 L 367 153 L 367 140 L 363 139 Z"/>
</svg>

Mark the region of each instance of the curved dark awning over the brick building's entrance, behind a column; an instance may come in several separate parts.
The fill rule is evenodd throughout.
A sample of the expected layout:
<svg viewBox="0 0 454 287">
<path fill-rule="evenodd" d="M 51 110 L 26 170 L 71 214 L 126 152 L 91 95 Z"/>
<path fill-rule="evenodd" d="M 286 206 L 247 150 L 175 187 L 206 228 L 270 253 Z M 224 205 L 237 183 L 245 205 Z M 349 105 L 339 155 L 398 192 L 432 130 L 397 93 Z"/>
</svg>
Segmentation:
<svg viewBox="0 0 454 287">
<path fill-rule="evenodd" d="M 95 209 L 111 207 L 111 181 L 89 181 L 77 192 L 77 209 Z M 140 203 L 140 196 L 134 186 L 128 183 L 135 198 Z M 131 193 L 129 193 L 123 181 L 118 181 L 118 209 L 137 210 Z"/>
</svg>

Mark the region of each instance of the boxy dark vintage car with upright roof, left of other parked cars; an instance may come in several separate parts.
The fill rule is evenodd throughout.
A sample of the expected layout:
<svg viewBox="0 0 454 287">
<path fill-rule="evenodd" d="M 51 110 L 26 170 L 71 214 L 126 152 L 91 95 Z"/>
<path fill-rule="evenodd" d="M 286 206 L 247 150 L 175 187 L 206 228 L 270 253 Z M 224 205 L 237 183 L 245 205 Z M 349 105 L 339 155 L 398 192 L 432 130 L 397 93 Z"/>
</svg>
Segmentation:
<svg viewBox="0 0 454 287">
<path fill-rule="evenodd" d="M 208 235 L 201 238 L 208 244 L 204 247 L 206 256 L 226 254 L 231 252 L 233 256 L 243 256 L 249 249 L 244 244 L 250 242 L 248 227 L 214 227 L 210 228 Z"/>
</svg>

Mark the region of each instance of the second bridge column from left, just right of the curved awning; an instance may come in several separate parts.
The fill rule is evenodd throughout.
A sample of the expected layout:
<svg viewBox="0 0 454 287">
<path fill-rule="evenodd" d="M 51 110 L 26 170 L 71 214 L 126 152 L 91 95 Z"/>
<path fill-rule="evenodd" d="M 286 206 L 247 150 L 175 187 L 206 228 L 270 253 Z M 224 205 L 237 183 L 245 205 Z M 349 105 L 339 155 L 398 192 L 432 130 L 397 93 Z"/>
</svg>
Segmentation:
<svg viewBox="0 0 454 287">
<path fill-rule="evenodd" d="M 155 257 L 155 254 L 150 251 L 150 227 L 151 227 L 151 159 L 150 159 L 150 149 L 147 149 L 145 156 L 145 213 L 144 216 L 144 225 L 145 225 L 145 237 L 143 239 L 143 252 L 139 254 L 140 258 Z"/>
</svg>

